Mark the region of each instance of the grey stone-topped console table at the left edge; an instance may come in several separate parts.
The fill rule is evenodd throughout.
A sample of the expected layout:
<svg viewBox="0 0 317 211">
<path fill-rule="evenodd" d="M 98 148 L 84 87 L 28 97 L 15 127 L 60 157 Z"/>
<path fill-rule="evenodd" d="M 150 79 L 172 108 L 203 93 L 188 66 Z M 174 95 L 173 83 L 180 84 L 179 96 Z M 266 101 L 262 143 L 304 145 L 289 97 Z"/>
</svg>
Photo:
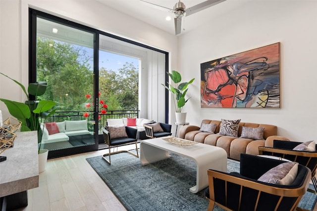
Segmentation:
<svg viewBox="0 0 317 211">
<path fill-rule="evenodd" d="M 13 147 L 0 156 L 0 198 L 8 210 L 27 206 L 27 190 L 39 187 L 37 131 L 17 132 Z"/>
</svg>

